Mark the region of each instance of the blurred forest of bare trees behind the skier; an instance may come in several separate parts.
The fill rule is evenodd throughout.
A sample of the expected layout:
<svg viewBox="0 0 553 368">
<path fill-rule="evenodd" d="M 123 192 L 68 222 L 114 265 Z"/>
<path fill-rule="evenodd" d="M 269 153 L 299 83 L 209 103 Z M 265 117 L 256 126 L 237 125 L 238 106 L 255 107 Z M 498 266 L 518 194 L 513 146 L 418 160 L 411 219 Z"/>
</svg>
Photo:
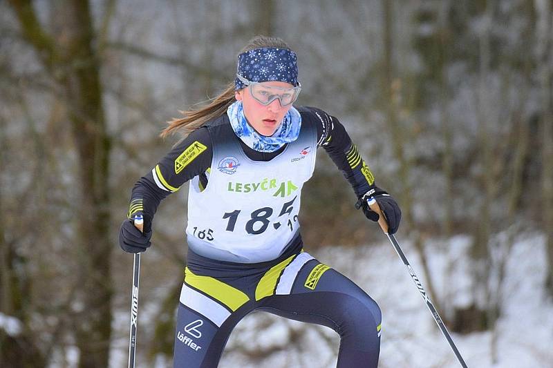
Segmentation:
<svg viewBox="0 0 553 368">
<path fill-rule="evenodd" d="M 132 256 L 117 234 L 131 188 L 176 142 L 158 137 L 165 122 L 232 81 L 258 34 L 297 50 L 297 104 L 338 117 L 400 202 L 398 238 L 451 331 L 489 331 L 493 344 L 516 242 L 540 237 L 524 257 L 545 257 L 541 302 L 553 297 L 552 14 L 548 0 L 1 1 L 0 366 L 107 367 L 126 354 Z M 317 160 L 306 249 L 382 240 Z M 149 365 L 171 356 L 185 193 L 160 206 L 142 258 Z M 428 256 L 460 235 L 470 288 L 454 302 Z"/>
</svg>

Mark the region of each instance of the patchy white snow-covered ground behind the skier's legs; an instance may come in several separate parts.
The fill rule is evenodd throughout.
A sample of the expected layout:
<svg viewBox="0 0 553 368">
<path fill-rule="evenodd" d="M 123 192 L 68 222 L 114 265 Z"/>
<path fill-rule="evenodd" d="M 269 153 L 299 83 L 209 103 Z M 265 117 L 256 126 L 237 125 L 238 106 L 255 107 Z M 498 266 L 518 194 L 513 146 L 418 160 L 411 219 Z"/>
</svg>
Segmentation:
<svg viewBox="0 0 553 368">
<path fill-rule="evenodd" d="M 403 241 L 401 234 L 397 240 L 426 286 L 412 244 Z M 440 291 L 451 288 L 451 300 L 462 307 L 469 302 L 471 287 L 466 257 L 469 239 L 453 238 L 446 246 L 440 242 L 427 244 L 435 289 L 442 295 Z M 391 244 L 328 247 L 310 253 L 348 275 L 379 303 L 383 312 L 379 367 L 460 367 Z M 451 276 L 446 278 L 448 259 Z M 498 361 L 493 364 L 491 360 L 490 331 L 452 334 L 469 367 L 553 367 L 553 302 L 543 290 L 545 269 L 543 238 L 528 237 L 514 244 L 503 286 L 503 315 L 497 326 Z M 145 309 L 142 318 L 147 318 Z M 121 316 L 126 326 L 127 313 Z M 443 314 L 442 318 L 445 318 Z M 124 344 L 118 345 L 112 357 L 113 368 L 126 366 Z M 252 313 L 233 331 L 219 367 L 335 367 L 338 345 L 337 334 L 326 327 L 285 320 L 268 313 Z M 171 362 L 159 358 L 156 368 L 162 367 L 172 367 Z"/>
</svg>

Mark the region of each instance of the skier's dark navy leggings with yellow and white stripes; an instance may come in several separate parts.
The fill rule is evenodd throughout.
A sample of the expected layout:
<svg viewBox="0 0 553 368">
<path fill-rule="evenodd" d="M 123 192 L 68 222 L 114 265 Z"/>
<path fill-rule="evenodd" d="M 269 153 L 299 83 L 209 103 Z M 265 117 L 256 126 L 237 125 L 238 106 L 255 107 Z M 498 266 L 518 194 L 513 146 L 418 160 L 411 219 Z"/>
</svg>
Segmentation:
<svg viewBox="0 0 553 368">
<path fill-rule="evenodd" d="M 339 368 L 377 367 L 380 309 L 341 273 L 308 253 L 256 265 L 216 263 L 218 268 L 189 262 L 174 367 L 217 367 L 232 329 L 254 310 L 334 329 L 341 338 Z"/>
</svg>

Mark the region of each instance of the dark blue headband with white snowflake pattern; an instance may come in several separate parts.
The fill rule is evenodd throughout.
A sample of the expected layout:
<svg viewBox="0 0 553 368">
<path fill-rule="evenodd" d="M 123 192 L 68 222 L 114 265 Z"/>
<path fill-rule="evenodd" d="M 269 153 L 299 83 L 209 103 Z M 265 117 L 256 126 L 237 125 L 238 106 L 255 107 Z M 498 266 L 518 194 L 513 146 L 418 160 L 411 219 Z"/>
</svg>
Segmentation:
<svg viewBox="0 0 553 368">
<path fill-rule="evenodd" d="M 298 85 L 298 64 L 296 53 L 287 48 L 255 48 L 238 55 L 236 74 L 249 81 L 285 81 Z M 234 90 L 245 84 L 234 79 Z"/>
</svg>

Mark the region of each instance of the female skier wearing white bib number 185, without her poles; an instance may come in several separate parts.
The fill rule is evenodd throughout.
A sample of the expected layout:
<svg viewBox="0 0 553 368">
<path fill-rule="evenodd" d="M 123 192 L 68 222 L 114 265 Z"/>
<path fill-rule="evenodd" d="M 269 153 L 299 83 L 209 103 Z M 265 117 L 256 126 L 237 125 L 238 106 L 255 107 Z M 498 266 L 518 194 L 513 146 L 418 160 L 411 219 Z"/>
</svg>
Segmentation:
<svg viewBox="0 0 553 368">
<path fill-rule="evenodd" d="M 377 201 L 395 233 L 401 211 L 375 186 L 344 126 L 297 107 L 296 54 L 278 38 L 254 37 L 238 55 L 234 83 L 173 119 L 162 132 L 185 138 L 135 184 L 119 235 L 129 253 L 150 246 L 158 204 L 191 180 L 188 254 L 175 332 L 174 367 L 216 367 L 236 324 L 254 310 L 339 333 L 337 367 L 377 367 L 381 314 L 351 280 L 303 251 L 299 204 L 321 146 L 351 184 L 365 215 Z M 330 207 L 331 208 L 331 207 Z M 143 215 L 141 233 L 133 218 Z M 308 347 L 306 347 L 308 349 Z"/>
</svg>

